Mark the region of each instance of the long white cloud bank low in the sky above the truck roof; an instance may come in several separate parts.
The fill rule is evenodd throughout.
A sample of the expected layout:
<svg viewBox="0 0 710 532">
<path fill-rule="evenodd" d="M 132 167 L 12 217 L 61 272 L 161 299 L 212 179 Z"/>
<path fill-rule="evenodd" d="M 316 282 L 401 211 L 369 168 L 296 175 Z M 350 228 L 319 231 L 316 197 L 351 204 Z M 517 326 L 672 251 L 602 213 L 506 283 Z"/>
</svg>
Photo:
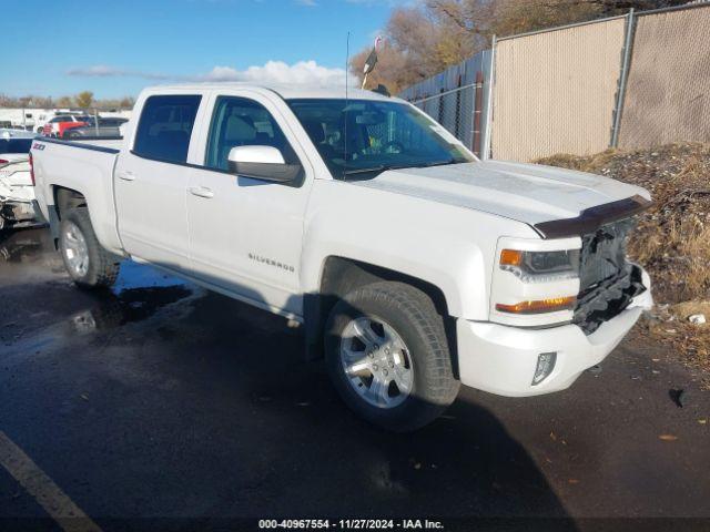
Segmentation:
<svg viewBox="0 0 710 532">
<path fill-rule="evenodd" d="M 344 86 L 346 79 L 345 69 L 322 66 L 313 60 L 298 61 L 293 64 L 287 64 L 283 61 L 267 61 L 264 65 L 250 66 L 246 70 L 217 65 L 207 73 L 195 75 L 144 72 L 106 66 L 104 64 L 72 69 L 67 74 L 82 78 L 141 78 L 153 81 L 243 81 L 320 86 Z"/>
</svg>

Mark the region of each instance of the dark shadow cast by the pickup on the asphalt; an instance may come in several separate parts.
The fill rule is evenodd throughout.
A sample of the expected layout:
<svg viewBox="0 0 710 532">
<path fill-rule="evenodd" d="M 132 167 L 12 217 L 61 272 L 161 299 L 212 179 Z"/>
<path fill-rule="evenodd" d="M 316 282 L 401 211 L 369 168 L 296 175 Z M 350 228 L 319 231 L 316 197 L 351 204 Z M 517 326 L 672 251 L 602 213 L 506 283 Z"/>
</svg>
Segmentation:
<svg viewBox="0 0 710 532">
<path fill-rule="evenodd" d="M 577 530 L 535 460 L 475 402 L 459 399 L 413 433 L 375 428 L 347 410 L 323 360 L 303 361 L 301 331 L 216 294 L 193 301 L 161 338 L 181 360 L 170 365 L 171 379 L 210 412 L 191 430 L 231 434 L 236 443 L 214 452 L 250 468 L 222 473 L 239 497 L 213 507 L 216 518 L 201 522 L 206 528 L 237 514 L 439 516 L 459 520 L 460 530 L 470 530 L 471 519 L 490 520 L 493 530 Z"/>
</svg>

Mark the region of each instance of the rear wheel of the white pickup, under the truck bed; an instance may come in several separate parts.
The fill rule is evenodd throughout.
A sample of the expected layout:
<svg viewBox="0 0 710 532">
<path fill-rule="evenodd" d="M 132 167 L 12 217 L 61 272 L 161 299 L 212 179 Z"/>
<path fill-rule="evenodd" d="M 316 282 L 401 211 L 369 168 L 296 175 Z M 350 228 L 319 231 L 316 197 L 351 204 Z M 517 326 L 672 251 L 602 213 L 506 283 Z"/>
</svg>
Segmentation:
<svg viewBox="0 0 710 532">
<path fill-rule="evenodd" d="M 67 272 L 80 288 L 108 288 L 119 276 L 120 258 L 99 244 L 85 207 L 63 213 L 59 249 Z"/>
</svg>

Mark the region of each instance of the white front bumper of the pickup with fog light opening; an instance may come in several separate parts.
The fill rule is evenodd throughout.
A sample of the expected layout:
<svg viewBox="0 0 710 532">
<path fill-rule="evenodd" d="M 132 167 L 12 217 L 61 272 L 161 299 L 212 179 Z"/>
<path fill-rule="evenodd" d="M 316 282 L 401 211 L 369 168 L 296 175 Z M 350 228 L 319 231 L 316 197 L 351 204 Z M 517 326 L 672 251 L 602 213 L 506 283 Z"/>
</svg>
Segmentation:
<svg viewBox="0 0 710 532">
<path fill-rule="evenodd" d="M 579 325 L 531 329 L 458 319 L 458 369 L 462 383 L 508 397 L 537 396 L 571 386 L 587 369 L 601 362 L 653 305 L 650 278 L 640 267 L 640 291 L 592 332 Z M 641 289 L 642 288 L 642 289 Z M 619 287 L 623 290 L 623 288 Z M 540 356 L 554 354 L 552 367 L 534 383 Z"/>
</svg>

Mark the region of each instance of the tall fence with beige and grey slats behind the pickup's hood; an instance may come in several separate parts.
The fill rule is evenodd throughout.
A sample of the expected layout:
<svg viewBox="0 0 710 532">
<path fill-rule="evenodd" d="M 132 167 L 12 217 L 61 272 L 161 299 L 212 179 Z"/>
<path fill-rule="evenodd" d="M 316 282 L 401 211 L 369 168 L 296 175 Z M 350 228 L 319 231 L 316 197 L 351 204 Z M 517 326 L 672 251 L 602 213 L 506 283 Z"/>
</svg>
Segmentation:
<svg viewBox="0 0 710 532">
<path fill-rule="evenodd" d="M 499 39 L 400 96 L 483 158 L 710 142 L 710 1 Z"/>
</svg>

